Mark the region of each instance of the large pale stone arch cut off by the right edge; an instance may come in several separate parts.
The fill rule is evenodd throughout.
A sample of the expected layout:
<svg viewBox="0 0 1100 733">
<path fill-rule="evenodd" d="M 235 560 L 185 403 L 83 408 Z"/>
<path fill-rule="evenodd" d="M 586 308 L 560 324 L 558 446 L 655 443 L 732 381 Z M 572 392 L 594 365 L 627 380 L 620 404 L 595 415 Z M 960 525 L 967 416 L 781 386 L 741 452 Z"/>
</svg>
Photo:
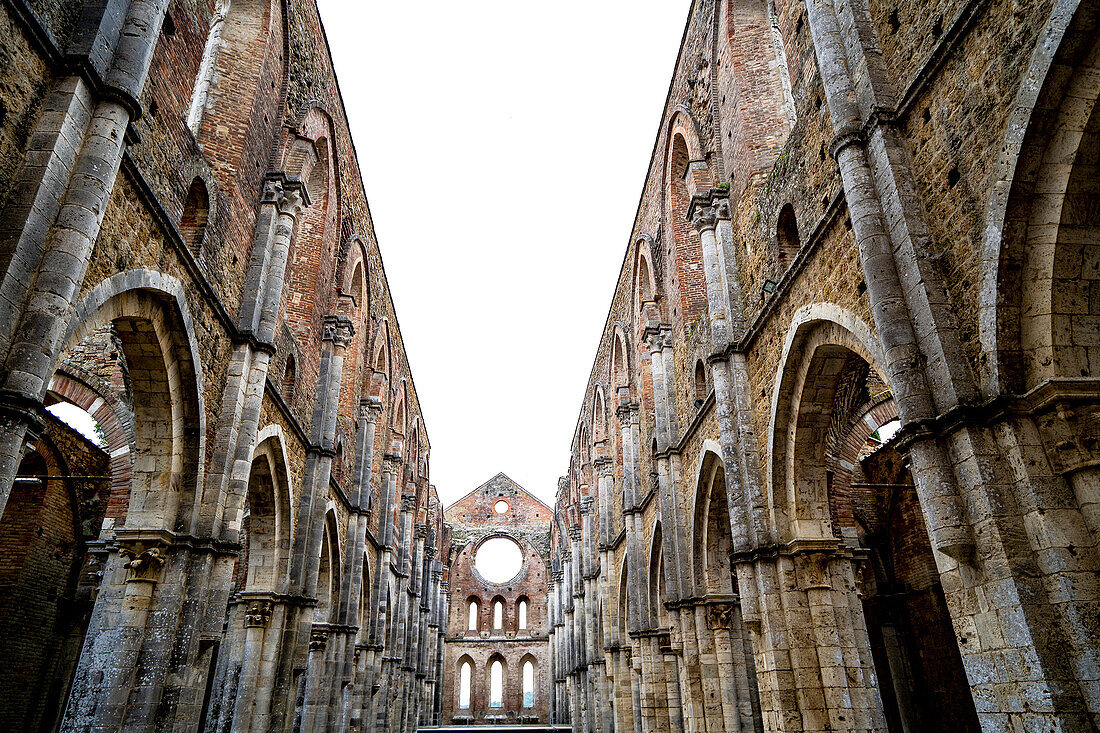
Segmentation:
<svg viewBox="0 0 1100 733">
<path fill-rule="evenodd" d="M 1088 151 L 1100 135 L 1100 7 L 1064 4 L 1016 92 L 987 210 L 979 332 L 988 396 L 1094 374 L 1100 360 L 1088 336 L 1100 314 L 1074 292 L 1100 277 L 1088 265 L 1100 229 L 1086 185 L 1097 166 Z"/>
</svg>

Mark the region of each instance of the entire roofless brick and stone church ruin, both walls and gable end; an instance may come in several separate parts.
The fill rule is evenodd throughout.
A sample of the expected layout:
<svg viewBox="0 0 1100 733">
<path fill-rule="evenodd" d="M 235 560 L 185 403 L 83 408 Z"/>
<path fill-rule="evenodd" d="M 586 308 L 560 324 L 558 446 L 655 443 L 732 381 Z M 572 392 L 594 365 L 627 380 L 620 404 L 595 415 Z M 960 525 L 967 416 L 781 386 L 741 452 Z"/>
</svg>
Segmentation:
<svg viewBox="0 0 1100 733">
<path fill-rule="evenodd" d="M 683 6 L 447 507 L 316 3 L 0 1 L 0 729 L 1098 729 L 1100 2 Z"/>
</svg>

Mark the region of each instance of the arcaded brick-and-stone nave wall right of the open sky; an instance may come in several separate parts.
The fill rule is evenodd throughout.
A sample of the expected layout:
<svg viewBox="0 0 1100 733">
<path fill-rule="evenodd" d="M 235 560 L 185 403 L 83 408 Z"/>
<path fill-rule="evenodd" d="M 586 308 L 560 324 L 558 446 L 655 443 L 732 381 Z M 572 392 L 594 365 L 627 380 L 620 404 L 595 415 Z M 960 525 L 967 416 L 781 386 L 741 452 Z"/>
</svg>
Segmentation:
<svg viewBox="0 0 1100 733">
<path fill-rule="evenodd" d="M 1097 731 L 1100 3 L 690 4 L 559 484 L 551 722 Z"/>
</svg>

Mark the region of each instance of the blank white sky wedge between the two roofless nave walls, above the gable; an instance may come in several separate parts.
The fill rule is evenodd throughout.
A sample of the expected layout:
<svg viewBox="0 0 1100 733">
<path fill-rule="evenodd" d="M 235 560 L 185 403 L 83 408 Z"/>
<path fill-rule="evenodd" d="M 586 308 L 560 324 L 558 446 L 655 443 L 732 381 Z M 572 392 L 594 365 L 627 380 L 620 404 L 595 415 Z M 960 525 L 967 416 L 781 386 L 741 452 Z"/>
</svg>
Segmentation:
<svg viewBox="0 0 1100 733">
<path fill-rule="evenodd" d="M 690 0 L 319 0 L 450 504 L 547 503 Z"/>
</svg>

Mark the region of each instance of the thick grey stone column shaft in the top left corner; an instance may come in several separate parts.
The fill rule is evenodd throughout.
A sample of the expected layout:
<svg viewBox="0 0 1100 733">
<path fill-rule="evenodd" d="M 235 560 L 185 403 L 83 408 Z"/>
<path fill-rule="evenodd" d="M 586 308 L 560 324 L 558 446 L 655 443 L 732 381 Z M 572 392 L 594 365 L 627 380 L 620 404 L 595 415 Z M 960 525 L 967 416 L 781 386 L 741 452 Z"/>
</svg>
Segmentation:
<svg viewBox="0 0 1100 733">
<path fill-rule="evenodd" d="M 12 218 L 22 219 L 18 225 L 22 231 L 0 282 L 0 303 L 15 304 L 0 306 L 0 348 L 7 351 L 0 385 L 0 515 L 25 439 L 42 430 L 46 387 L 65 348 L 130 124 L 141 114 L 139 99 L 167 7 L 168 0 L 132 0 L 121 29 L 117 17 L 105 13 L 101 26 L 92 33 L 97 61 L 111 57 L 106 68 L 96 69 L 105 77 L 98 90 L 102 97 L 95 99 L 95 92 L 75 76 L 58 85 L 58 96 L 70 99 L 56 105 L 64 112 L 58 109 L 62 113 L 43 118 L 43 123 L 59 120 L 55 147 L 28 151 L 35 160 L 24 163 L 20 176 L 30 184 L 23 190 L 34 193 L 9 204 L 19 210 L 3 212 L 6 225 L 14 226 Z M 73 160 L 70 168 L 66 160 Z"/>
</svg>

